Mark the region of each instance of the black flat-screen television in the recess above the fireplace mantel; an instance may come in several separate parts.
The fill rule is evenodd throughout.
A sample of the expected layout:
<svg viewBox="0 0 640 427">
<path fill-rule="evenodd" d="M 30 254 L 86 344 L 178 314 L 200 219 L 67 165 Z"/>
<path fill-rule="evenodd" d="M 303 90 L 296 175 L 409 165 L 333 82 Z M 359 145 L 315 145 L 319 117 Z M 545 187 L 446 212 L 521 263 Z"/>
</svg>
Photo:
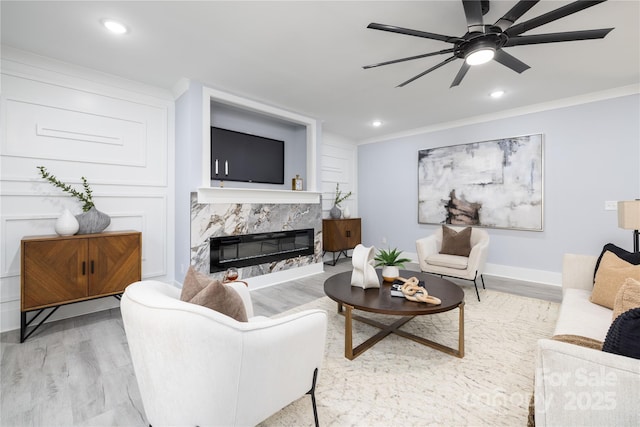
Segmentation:
<svg viewBox="0 0 640 427">
<path fill-rule="evenodd" d="M 212 126 L 211 179 L 284 184 L 284 141 Z"/>
</svg>

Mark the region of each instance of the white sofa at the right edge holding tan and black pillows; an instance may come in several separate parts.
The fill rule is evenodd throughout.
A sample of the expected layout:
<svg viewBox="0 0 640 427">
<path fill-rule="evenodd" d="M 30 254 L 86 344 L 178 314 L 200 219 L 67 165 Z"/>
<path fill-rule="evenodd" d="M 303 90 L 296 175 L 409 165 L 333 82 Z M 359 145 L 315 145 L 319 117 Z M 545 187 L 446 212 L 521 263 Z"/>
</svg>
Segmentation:
<svg viewBox="0 0 640 427">
<path fill-rule="evenodd" d="M 604 342 L 612 310 L 589 301 L 597 258 L 566 254 L 554 335 Z M 536 426 L 639 426 L 640 360 L 543 339 L 535 373 Z"/>
</svg>

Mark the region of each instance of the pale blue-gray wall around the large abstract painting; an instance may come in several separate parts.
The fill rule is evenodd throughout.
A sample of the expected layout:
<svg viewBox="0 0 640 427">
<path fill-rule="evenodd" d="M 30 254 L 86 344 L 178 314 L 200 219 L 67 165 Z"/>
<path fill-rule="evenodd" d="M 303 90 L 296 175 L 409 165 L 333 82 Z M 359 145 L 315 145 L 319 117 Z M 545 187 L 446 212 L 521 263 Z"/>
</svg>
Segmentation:
<svg viewBox="0 0 640 427">
<path fill-rule="evenodd" d="M 640 197 L 640 96 L 559 108 L 358 147 L 358 207 L 365 245 L 415 253 L 434 225 L 418 224 L 418 150 L 542 133 L 544 231 L 488 229 L 488 263 L 560 272 L 563 253 L 632 249 L 607 200 Z M 388 243 L 383 244 L 386 238 Z"/>
</svg>

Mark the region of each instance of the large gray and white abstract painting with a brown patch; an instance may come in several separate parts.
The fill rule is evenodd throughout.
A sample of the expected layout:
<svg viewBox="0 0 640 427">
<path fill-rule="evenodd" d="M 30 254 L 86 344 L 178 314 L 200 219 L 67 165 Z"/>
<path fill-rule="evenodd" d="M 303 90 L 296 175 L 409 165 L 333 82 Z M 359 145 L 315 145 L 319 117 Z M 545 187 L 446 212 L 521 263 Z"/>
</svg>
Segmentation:
<svg viewBox="0 0 640 427">
<path fill-rule="evenodd" d="M 418 222 L 543 230 L 542 134 L 418 152 Z"/>
</svg>

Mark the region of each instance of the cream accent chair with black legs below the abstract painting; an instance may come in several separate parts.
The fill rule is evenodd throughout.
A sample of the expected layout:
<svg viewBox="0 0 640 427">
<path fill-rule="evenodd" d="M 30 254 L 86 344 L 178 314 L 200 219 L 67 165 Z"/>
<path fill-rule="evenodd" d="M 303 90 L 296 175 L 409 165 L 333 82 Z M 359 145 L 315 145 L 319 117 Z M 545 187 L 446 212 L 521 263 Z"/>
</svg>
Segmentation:
<svg viewBox="0 0 640 427">
<path fill-rule="evenodd" d="M 461 231 L 465 227 L 453 227 L 456 231 Z M 457 279 L 472 281 L 476 287 L 476 295 L 480 301 L 478 283 L 476 279 L 480 277 L 482 289 L 484 287 L 484 271 L 489 252 L 489 233 L 485 230 L 473 227 L 471 230 L 471 253 L 469 257 L 459 255 L 441 254 L 442 247 L 442 227 L 438 227 L 434 234 L 429 237 L 416 240 L 416 251 L 418 253 L 418 263 L 420 270 L 425 273 L 437 274 L 438 276 L 455 277 Z"/>
</svg>

